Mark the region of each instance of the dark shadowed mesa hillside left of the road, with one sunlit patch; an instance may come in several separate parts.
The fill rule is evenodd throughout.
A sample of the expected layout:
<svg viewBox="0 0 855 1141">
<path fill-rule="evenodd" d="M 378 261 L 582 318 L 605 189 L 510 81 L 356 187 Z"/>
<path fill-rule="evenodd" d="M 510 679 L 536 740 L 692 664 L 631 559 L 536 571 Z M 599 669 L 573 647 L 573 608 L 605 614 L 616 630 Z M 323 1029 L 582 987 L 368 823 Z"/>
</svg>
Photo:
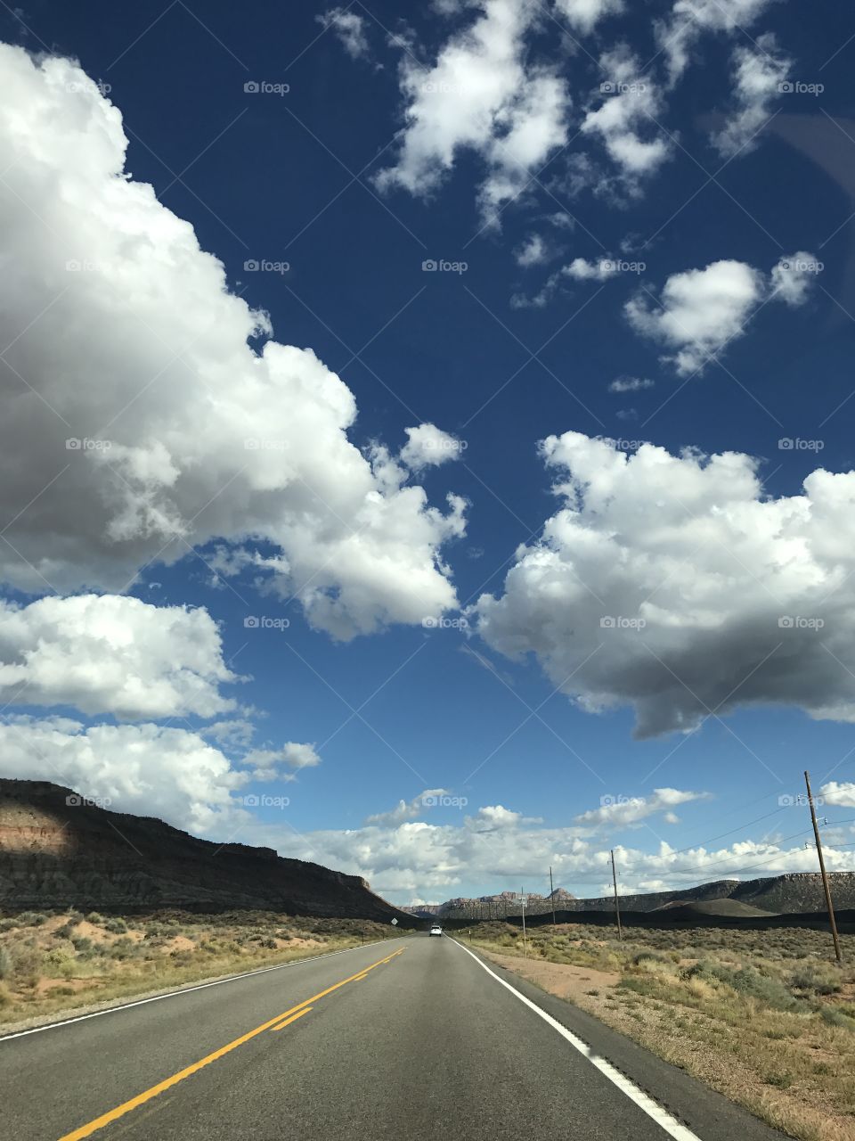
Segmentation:
<svg viewBox="0 0 855 1141">
<path fill-rule="evenodd" d="M 413 923 L 358 876 L 68 796 L 49 782 L 0 779 L 0 908 L 249 907 Z"/>
</svg>

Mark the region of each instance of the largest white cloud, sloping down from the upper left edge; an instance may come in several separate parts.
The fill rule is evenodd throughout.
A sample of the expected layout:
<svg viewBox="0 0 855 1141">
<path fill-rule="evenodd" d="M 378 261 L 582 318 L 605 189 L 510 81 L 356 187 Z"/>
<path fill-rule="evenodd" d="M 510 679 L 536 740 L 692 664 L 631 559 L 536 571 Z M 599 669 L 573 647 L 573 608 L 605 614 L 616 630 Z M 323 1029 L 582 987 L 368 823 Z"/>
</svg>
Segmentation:
<svg viewBox="0 0 855 1141">
<path fill-rule="evenodd" d="M 0 75 L 0 577 L 121 592 L 188 544 L 260 537 L 336 637 L 453 606 L 462 501 L 381 482 L 347 386 L 310 349 L 249 343 L 267 316 L 125 173 L 120 112 L 78 66 L 2 46 Z"/>
</svg>

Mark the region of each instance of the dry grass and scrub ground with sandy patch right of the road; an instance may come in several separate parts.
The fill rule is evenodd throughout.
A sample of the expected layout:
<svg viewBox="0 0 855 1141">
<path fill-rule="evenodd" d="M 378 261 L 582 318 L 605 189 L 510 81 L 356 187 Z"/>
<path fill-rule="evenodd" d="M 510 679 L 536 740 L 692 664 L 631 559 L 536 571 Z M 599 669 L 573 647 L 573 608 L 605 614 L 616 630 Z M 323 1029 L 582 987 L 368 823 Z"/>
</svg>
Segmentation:
<svg viewBox="0 0 855 1141">
<path fill-rule="evenodd" d="M 458 938 L 600 1018 L 801 1141 L 855 1141 L 855 936 L 798 928 L 528 933 L 483 923 Z"/>
</svg>

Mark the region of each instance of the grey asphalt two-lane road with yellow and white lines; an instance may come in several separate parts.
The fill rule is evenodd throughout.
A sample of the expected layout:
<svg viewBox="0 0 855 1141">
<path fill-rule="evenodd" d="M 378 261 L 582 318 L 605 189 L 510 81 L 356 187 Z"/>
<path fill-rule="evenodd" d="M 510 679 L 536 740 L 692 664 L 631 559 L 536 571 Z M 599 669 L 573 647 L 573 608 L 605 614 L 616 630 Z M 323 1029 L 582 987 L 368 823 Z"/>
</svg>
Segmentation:
<svg viewBox="0 0 855 1141">
<path fill-rule="evenodd" d="M 0 1135 L 780 1141 L 484 965 L 416 934 L 0 1039 Z"/>
</svg>

